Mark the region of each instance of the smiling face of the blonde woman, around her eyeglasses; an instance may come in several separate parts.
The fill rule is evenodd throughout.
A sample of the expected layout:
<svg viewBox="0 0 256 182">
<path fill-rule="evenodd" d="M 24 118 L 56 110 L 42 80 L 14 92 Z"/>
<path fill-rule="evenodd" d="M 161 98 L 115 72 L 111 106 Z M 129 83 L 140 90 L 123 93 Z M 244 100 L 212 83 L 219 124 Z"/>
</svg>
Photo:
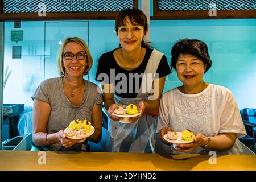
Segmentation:
<svg viewBox="0 0 256 182">
<path fill-rule="evenodd" d="M 82 77 L 87 66 L 87 58 L 78 60 L 75 54 L 86 53 L 84 48 L 75 42 L 69 42 L 63 49 L 63 54 L 74 54 L 72 60 L 66 60 L 63 56 L 63 66 L 65 67 L 65 75 L 72 77 Z"/>
</svg>

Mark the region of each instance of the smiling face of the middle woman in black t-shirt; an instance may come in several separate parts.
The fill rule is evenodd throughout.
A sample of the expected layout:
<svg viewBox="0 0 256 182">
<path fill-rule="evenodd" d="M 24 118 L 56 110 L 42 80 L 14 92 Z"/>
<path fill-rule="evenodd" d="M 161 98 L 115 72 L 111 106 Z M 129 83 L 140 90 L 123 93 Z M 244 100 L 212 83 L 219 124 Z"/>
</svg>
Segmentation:
<svg viewBox="0 0 256 182">
<path fill-rule="evenodd" d="M 142 39 L 146 36 L 143 26 L 132 24 L 129 18 L 118 28 L 119 43 L 126 51 L 133 51 L 141 47 Z"/>
</svg>

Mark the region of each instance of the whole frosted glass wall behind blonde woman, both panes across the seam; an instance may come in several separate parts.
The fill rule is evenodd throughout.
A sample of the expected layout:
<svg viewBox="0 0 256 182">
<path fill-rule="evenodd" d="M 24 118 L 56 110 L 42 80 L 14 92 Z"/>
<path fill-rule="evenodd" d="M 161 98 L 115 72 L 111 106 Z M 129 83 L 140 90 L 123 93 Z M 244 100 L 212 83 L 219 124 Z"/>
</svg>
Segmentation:
<svg viewBox="0 0 256 182">
<path fill-rule="evenodd" d="M 22 41 L 11 41 L 11 31 L 23 31 Z M 5 22 L 5 70 L 10 77 L 3 92 L 4 104 L 25 104 L 32 109 L 32 94 L 40 82 L 58 77 L 57 53 L 63 40 L 79 36 L 89 42 L 88 21 L 22 22 L 14 28 L 13 22 Z M 13 46 L 21 46 L 21 57 L 13 58 Z M 85 76 L 88 79 L 88 76 Z"/>
</svg>

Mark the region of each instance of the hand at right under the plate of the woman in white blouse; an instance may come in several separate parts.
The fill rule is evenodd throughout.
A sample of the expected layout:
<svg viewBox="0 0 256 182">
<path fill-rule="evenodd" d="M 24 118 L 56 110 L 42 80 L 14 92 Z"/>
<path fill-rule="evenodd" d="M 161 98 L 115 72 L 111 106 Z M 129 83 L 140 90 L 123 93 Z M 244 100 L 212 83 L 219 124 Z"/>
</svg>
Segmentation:
<svg viewBox="0 0 256 182">
<path fill-rule="evenodd" d="M 179 152 L 190 152 L 197 147 L 204 146 L 205 144 L 207 144 L 207 142 L 207 137 L 205 137 L 201 133 L 197 133 L 192 143 L 180 144 L 179 146 L 176 146 L 176 148 L 172 147 L 172 150 Z"/>
</svg>

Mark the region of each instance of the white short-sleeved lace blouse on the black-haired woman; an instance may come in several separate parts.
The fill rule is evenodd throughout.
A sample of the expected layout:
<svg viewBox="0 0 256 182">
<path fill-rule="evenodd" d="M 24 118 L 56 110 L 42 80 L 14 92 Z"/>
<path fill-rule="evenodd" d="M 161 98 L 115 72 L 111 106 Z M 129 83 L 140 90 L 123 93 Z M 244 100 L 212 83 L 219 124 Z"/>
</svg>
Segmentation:
<svg viewBox="0 0 256 182">
<path fill-rule="evenodd" d="M 237 133 L 237 138 L 246 136 L 232 92 L 213 84 L 197 94 L 184 94 L 177 88 L 164 93 L 160 101 L 156 132 L 166 126 L 170 126 L 172 131 L 189 129 L 194 134 L 200 132 L 209 137 L 219 133 Z M 237 140 L 226 153 L 241 154 L 241 150 Z M 205 153 L 205 150 L 198 147 L 191 153 Z"/>
</svg>

